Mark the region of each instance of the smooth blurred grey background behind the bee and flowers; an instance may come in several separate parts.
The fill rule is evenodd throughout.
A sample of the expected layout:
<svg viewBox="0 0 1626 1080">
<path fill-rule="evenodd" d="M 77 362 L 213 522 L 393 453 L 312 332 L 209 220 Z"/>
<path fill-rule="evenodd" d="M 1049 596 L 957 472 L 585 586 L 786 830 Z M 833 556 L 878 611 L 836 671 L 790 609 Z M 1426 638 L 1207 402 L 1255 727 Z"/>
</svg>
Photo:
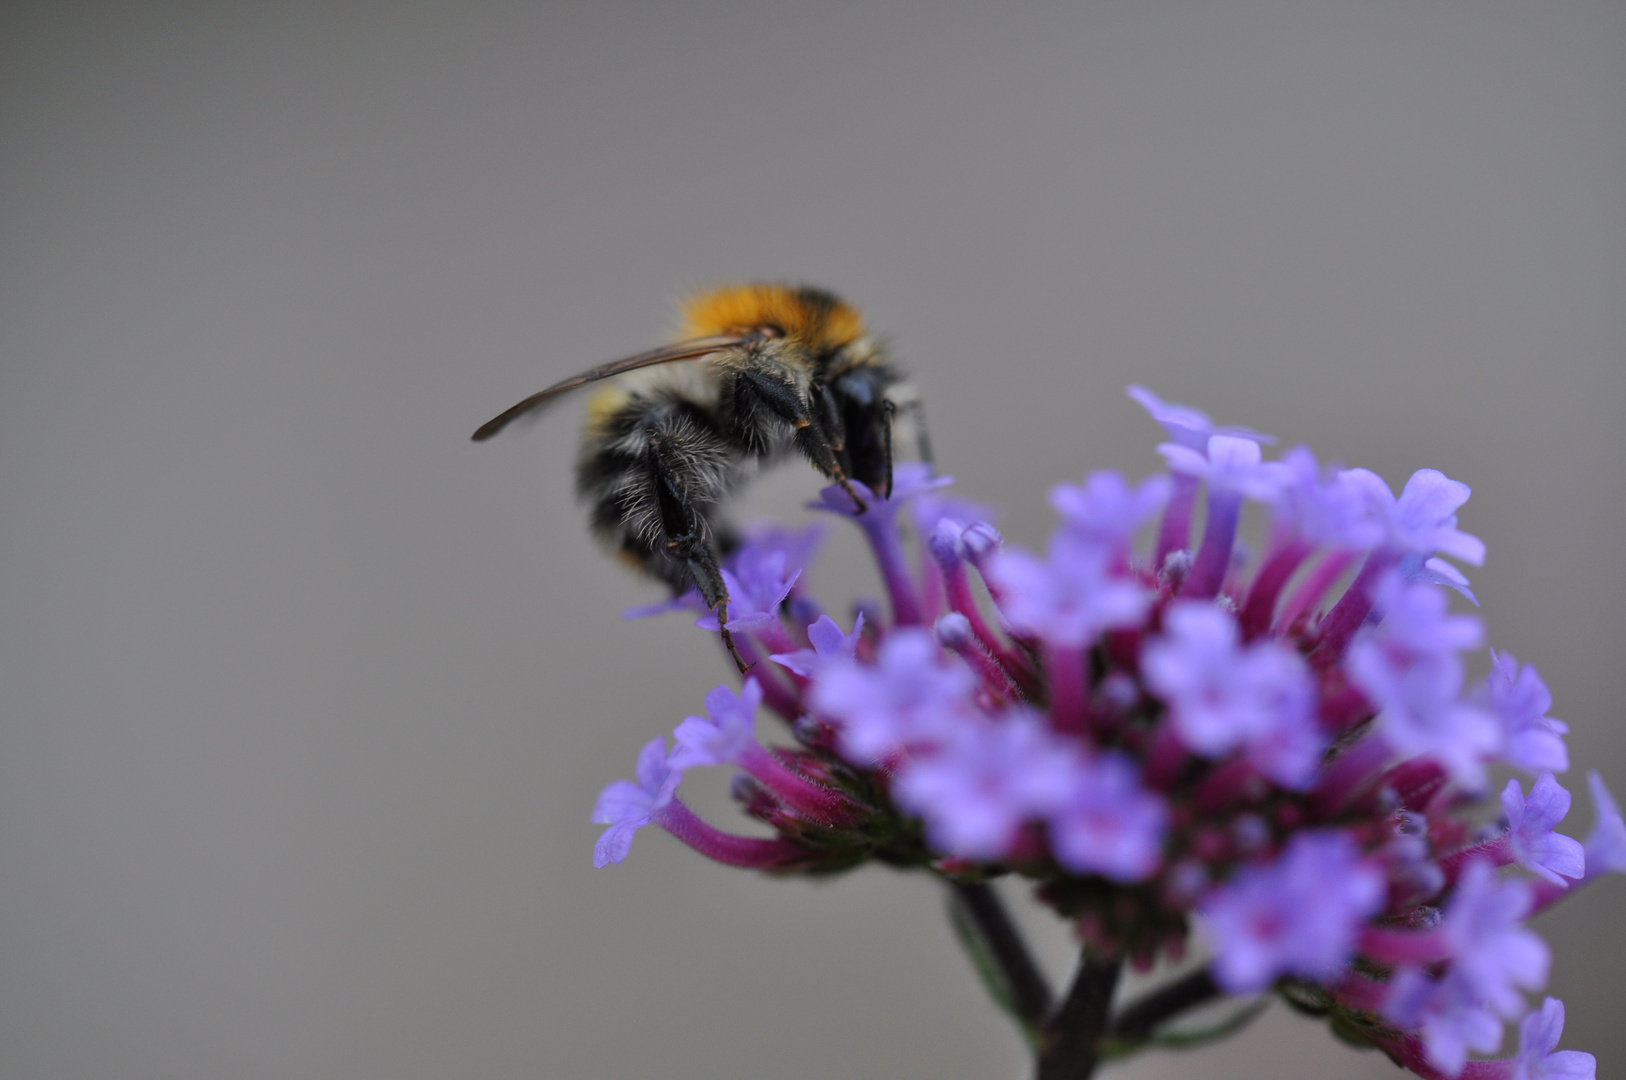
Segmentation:
<svg viewBox="0 0 1626 1080">
<path fill-rule="evenodd" d="M 590 865 L 727 667 L 620 618 L 574 408 L 468 433 L 719 280 L 862 306 L 1028 545 L 1159 465 L 1128 382 L 1468 481 L 1626 794 L 1618 2 L 11 3 L 0 190 L 7 1080 L 1024 1073 L 927 880 Z M 1541 922 L 1603 1077 L 1623 898 Z M 1395 1075 L 1280 1007 L 1117 1075 L 1312 1069 Z"/>
</svg>

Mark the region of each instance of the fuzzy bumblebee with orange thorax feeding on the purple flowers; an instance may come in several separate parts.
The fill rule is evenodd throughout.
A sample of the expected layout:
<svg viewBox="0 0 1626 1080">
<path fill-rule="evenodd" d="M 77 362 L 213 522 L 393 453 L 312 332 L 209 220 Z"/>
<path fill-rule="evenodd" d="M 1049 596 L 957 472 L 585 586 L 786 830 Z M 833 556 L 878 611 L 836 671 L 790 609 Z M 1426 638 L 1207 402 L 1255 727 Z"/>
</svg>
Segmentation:
<svg viewBox="0 0 1626 1080">
<path fill-rule="evenodd" d="M 673 594 L 691 586 L 728 634 L 722 558 L 737 543 L 727 498 L 761 467 L 800 455 L 854 499 L 862 481 L 891 496 L 893 442 L 907 415 L 927 457 L 919 400 L 857 309 L 816 288 L 738 285 L 689 298 L 670 345 L 556 382 L 475 431 L 511 421 L 590 382 L 576 460 L 577 496 L 608 548 Z"/>
</svg>

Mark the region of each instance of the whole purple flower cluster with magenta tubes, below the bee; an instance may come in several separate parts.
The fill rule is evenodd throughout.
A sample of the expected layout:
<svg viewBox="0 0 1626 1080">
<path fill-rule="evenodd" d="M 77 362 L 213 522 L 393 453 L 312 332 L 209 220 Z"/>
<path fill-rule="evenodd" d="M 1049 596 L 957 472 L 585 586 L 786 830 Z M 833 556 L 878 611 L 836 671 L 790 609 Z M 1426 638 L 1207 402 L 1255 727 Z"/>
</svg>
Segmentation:
<svg viewBox="0 0 1626 1080">
<path fill-rule="evenodd" d="M 1540 675 L 1493 652 L 1468 680 L 1485 631 L 1452 610 L 1449 590 L 1472 592 L 1446 561 L 1485 556 L 1457 529 L 1468 488 L 1419 470 L 1395 496 L 1130 395 L 1167 433 L 1167 475 L 1055 488 L 1042 556 L 1005 548 L 925 467 L 899 465 L 863 511 L 826 488 L 813 509 L 862 529 L 889 618 L 870 603 L 844 629 L 806 590 L 816 533 L 756 533 L 725 571 L 751 673 L 673 750 L 646 745 L 637 784 L 605 789 L 595 862 L 654 823 L 779 873 L 1016 873 L 1094 955 L 1150 966 L 1195 935 L 1218 989 L 1312 1002 L 1419 1075 L 1592 1077 L 1590 1056 L 1554 1051 L 1563 1005 L 1530 1012 L 1550 955 L 1527 919 L 1626 870 L 1626 823 L 1593 774 L 1598 825 L 1559 834 L 1567 729 Z M 1249 504 L 1257 560 L 1237 538 Z M 756 740 L 763 708 L 790 747 Z M 701 766 L 738 769 L 772 836 L 688 812 L 676 787 Z M 1509 781 L 1488 826 L 1493 766 L 1533 782 Z M 1470 1060 L 1509 1021 L 1517 1056 Z"/>
</svg>

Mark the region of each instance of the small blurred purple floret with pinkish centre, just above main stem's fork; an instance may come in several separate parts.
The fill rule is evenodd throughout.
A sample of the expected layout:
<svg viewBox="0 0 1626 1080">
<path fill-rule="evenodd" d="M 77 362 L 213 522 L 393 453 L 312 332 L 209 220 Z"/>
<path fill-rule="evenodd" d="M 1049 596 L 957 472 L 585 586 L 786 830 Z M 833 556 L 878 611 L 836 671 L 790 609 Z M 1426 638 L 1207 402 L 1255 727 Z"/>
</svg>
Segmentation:
<svg viewBox="0 0 1626 1080">
<path fill-rule="evenodd" d="M 1075 873 L 1140 882 L 1163 862 L 1169 808 L 1140 786 L 1133 763 L 1102 753 L 1081 763 L 1067 802 L 1049 815 L 1050 851 Z"/>
</svg>

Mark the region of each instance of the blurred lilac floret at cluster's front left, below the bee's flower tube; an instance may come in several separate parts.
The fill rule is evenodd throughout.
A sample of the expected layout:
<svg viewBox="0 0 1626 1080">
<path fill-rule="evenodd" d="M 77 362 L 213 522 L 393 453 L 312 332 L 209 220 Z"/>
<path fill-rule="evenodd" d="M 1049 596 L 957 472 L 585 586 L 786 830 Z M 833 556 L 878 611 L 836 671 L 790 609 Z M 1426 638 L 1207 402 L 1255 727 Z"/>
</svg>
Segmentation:
<svg viewBox="0 0 1626 1080">
<path fill-rule="evenodd" d="M 899 750 L 937 743 L 974 716 L 971 670 L 943 652 L 924 629 L 894 629 L 875 665 L 834 660 L 820 665 L 813 711 L 841 724 L 841 750 L 857 764 Z"/>
</svg>

